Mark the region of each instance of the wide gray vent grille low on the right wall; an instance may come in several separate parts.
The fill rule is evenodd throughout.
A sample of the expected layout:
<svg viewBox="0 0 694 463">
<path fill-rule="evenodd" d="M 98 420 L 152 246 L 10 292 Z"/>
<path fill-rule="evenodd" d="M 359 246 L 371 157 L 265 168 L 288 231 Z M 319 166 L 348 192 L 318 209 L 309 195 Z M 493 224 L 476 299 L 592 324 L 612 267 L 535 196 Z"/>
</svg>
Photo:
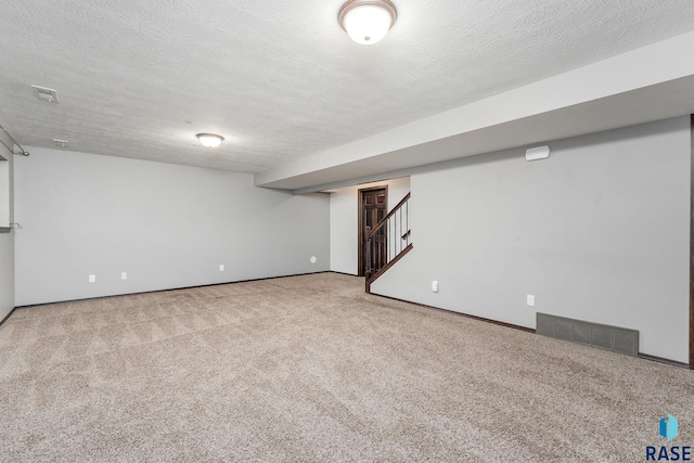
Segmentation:
<svg viewBox="0 0 694 463">
<path fill-rule="evenodd" d="M 639 356 L 639 331 L 537 313 L 537 334 Z"/>
</svg>

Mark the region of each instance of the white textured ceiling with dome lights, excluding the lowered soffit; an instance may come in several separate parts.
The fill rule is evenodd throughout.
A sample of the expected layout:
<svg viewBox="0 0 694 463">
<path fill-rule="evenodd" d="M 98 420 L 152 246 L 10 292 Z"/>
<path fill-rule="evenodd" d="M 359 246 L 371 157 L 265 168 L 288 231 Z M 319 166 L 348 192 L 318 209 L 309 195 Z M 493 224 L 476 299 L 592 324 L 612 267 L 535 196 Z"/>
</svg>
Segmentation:
<svg viewBox="0 0 694 463">
<path fill-rule="evenodd" d="M 255 173 L 694 30 L 692 0 L 396 0 L 364 47 L 342 2 L 1 2 L 0 124 L 26 145 Z"/>
</svg>

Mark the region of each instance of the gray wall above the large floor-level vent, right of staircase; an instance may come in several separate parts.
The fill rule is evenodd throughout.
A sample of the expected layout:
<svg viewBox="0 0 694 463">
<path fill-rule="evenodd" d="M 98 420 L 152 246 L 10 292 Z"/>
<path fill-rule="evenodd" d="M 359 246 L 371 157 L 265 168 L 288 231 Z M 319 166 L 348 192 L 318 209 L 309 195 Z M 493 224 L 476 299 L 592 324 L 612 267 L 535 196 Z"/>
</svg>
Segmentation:
<svg viewBox="0 0 694 463">
<path fill-rule="evenodd" d="M 547 160 L 519 149 L 414 172 L 414 249 L 372 291 L 528 327 L 541 311 L 635 329 L 643 353 L 687 362 L 690 118 L 549 144 Z"/>
</svg>

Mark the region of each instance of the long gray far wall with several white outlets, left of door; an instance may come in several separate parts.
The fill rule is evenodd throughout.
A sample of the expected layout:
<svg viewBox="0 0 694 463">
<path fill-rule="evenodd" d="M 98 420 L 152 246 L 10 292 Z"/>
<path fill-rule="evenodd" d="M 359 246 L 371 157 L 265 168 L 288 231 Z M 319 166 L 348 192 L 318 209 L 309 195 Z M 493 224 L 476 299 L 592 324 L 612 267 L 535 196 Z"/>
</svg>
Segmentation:
<svg viewBox="0 0 694 463">
<path fill-rule="evenodd" d="M 245 173 L 30 152 L 15 159 L 17 306 L 329 269 L 326 194 L 255 188 Z"/>
</svg>

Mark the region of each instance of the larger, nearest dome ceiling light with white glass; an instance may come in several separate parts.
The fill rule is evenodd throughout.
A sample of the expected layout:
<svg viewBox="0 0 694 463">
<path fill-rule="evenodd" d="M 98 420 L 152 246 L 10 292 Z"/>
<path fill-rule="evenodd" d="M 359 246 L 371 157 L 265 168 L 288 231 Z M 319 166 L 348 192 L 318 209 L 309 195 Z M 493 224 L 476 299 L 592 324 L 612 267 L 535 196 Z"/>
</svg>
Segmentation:
<svg viewBox="0 0 694 463">
<path fill-rule="evenodd" d="M 397 17 L 398 12 L 390 0 L 348 0 L 337 13 L 342 28 L 361 44 L 381 41 Z"/>
</svg>

